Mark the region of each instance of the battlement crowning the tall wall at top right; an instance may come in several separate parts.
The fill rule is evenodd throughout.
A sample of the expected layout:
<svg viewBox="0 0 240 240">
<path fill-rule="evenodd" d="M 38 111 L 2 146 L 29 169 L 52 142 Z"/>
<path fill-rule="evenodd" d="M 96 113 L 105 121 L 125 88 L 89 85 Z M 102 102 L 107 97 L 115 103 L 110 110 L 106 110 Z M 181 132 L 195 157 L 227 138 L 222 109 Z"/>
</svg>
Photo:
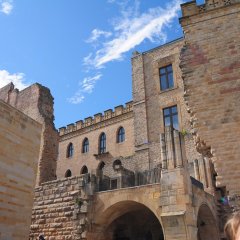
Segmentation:
<svg viewBox="0 0 240 240">
<path fill-rule="evenodd" d="M 216 8 L 240 3 L 240 0 L 205 0 L 205 4 L 197 5 L 196 0 L 181 4 L 182 19 Z"/>
</svg>

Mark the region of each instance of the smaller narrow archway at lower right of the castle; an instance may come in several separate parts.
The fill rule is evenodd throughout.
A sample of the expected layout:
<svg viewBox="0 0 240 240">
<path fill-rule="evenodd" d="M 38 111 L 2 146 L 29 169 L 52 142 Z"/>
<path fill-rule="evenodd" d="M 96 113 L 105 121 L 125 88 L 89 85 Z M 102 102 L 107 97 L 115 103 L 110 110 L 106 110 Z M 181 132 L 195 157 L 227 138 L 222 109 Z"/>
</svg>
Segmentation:
<svg viewBox="0 0 240 240">
<path fill-rule="evenodd" d="M 198 210 L 197 228 L 198 240 L 219 239 L 216 219 L 214 218 L 211 209 L 206 204 L 201 205 Z"/>
</svg>

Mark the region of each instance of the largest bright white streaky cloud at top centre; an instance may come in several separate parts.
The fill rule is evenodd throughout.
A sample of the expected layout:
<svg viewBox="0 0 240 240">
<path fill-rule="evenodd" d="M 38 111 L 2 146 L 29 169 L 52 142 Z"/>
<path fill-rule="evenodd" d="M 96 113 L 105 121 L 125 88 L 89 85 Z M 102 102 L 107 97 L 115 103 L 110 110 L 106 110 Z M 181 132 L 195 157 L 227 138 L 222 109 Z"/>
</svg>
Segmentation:
<svg viewBox="0 0 240 240">
<path fill-rule="evenodd" d="M 139 13 L 139 1 L 134 7 L 126 7 L 129 1 L 121 2 L 121 18 L 113 22 L 113 38 L 103 42 L 93 55 L 84 58 L 84 65 L 99 69 L 108 62 L 123 59 L 123 54 L 133 49 L 146 39 L 151 42 L 165 42 L 165 27 L 170 27 L 178 16 L 181 0 L 172 1 L 165 9 L 157 7 Z"/>
</svg>

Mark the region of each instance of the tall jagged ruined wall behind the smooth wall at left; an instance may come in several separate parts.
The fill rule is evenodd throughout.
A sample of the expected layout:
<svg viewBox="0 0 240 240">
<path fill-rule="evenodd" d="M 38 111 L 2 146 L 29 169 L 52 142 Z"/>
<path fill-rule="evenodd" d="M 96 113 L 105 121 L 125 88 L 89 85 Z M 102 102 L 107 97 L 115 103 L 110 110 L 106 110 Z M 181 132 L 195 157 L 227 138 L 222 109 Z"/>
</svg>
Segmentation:
<svg viewBox="0 0 240 240">
<path fill-rule="evenodd" d="M 0 99 L 42 124 L 37 184 L 56 179 L 58 133 L 54 127 L 53 97 L 40 84 L 18 91 L 12 83 L 0 89 Z"/>
</svg>

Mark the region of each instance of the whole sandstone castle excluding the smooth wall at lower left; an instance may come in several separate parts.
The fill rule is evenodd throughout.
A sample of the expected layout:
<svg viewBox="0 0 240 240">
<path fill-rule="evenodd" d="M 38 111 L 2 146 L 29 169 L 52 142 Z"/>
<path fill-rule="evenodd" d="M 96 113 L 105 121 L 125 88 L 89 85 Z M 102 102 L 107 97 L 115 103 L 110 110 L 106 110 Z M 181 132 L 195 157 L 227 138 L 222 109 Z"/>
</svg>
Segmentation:
<svg viewBox="0 0 240 240">
<path fill-rule="evenodd" d="M 181 8 L 184 38 L 133 53 L 125 106 L 57 134 L 46 88 L 0 89 L 43 125 L 30 239 L 224 239 L 240 206 L 240 1 Z"/>
</svg>

